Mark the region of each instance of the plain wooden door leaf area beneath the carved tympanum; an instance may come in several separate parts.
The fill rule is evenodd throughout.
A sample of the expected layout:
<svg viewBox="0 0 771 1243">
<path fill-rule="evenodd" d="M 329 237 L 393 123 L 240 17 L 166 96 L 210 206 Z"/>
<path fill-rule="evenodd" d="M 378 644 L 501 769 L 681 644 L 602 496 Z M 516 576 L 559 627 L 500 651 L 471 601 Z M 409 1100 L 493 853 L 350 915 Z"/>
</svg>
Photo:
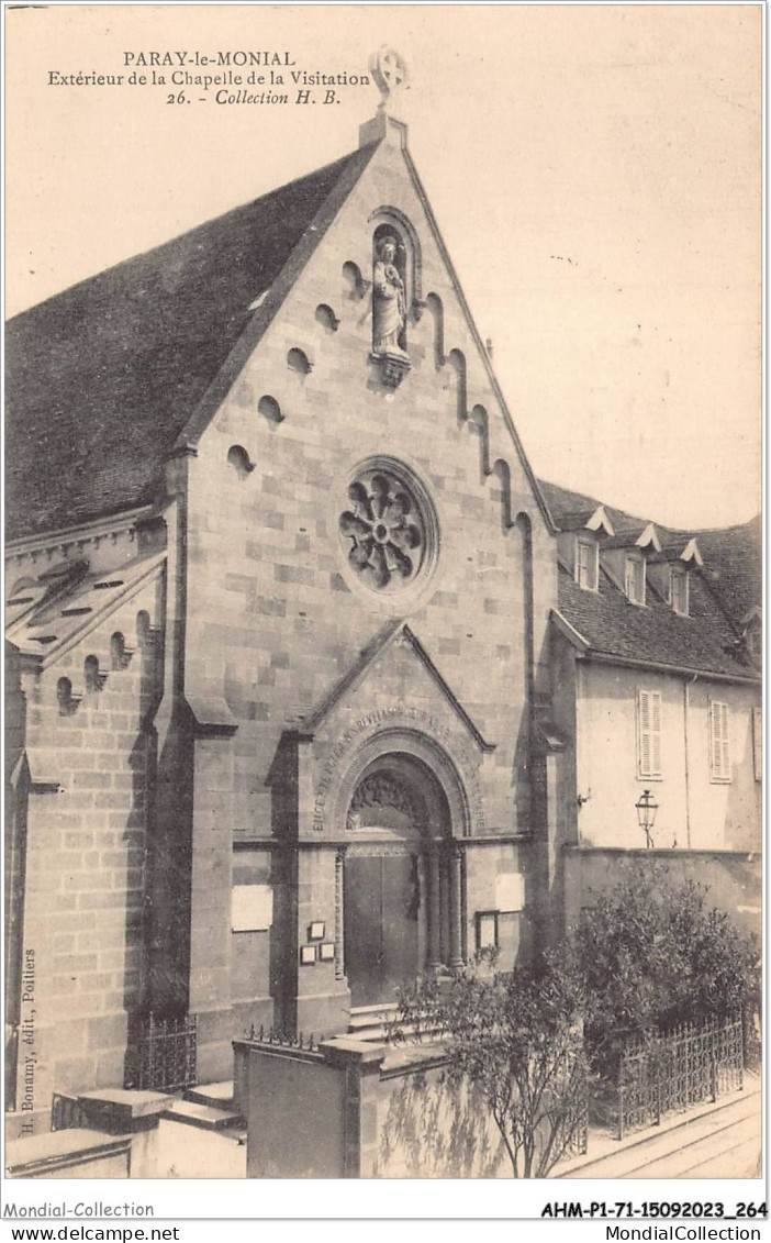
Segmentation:
<svg viewBox="0 0 771 1243">
<path fill-rule="evenodd" d="M 343 896 L 351 1006 L 394 1002 L 418 975 L 425 945 L 420 854 L 372 846 L 346 855 Z"/>
</svg>

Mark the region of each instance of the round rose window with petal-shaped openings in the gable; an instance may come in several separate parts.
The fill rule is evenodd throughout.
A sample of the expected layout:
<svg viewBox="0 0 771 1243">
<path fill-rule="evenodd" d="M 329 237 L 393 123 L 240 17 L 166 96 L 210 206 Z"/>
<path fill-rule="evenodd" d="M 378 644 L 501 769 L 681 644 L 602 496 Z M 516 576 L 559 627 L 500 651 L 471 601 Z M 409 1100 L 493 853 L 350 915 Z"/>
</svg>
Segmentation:
<svg viewBox="0 0 771 1243">
<path fill-rule="evenodd" d="M 349 566 L 370 587 L 399 590 L 426 554 L 426 521 L 415 496 L 396 474 L 377 469 L 358 475 L 348 498 L 340 537 Z"/>
</svg>

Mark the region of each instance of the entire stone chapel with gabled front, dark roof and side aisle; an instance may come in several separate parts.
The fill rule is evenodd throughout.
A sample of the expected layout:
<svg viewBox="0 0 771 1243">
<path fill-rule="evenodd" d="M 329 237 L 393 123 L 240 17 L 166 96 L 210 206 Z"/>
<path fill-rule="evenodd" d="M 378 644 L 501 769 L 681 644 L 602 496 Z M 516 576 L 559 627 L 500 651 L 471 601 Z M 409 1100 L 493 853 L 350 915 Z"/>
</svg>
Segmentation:
<svg viewBox="0 0 771 1243">
<path fill-rule="evenodd" d="M 153 1024 L 210 1083 L 551 935 L 559 528 L 389 107 L 16 317 L 7 395 L 22 1132 Z"/>
</svg>

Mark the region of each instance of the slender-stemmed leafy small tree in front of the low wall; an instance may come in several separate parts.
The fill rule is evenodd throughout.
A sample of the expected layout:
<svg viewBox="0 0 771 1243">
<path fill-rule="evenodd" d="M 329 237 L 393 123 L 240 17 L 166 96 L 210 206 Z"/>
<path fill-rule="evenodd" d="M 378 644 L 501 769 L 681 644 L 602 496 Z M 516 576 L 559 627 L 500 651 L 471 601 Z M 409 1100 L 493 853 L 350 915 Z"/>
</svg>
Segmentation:
<svg viewBox="0 0 771 1243">
<path fill-rule="evenodd" d="M 515 1178 L 545 1177 L 572 1149 L 586 1121 L 587 1066 L 581 986 L 564 956 L 507 975 L 421 981 L 402 996 L 400 1021 L 416 1037 L 446 1033 L 449 1081 L 480 1094 Z"/>
</svg>

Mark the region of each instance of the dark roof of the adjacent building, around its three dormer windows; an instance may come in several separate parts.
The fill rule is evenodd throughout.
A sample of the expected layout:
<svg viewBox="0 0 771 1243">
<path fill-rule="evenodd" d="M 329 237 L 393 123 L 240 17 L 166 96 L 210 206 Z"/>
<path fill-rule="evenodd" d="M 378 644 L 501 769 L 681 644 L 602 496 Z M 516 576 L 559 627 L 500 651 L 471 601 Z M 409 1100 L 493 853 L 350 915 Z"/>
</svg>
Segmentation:
<svg viewBox="0 0 771 1243">
<path fill-rule="evenodd" d="M 575 513 L 600 503 L 555 484 L 540 481 L 560 526 L 560 513 Z M 606 505 L 617 530 L 642 531 L 648 520 L 636 518 Z M 759 676 L 740 659 L 736 640 L 741 618 L 751 603 L 760 603 L 760 520 L 742 526 L 709 531 L 674 531 L 657 526 L 662 544 L 684 548 L 695 534 L 704 569 L 690 574 L 689 617 L 680 617 L 648 583 L 646 608 L 627 600 L 611 576 L 600 567 L 597 592 L 582 590 L 560 564 L 559 607 L 562 617 L 586 640 L 591 651 L 624 660 L 703 670 L 705 672 Z M 602 549 L 602 543 L 601 543 Z"/>
</svg>

